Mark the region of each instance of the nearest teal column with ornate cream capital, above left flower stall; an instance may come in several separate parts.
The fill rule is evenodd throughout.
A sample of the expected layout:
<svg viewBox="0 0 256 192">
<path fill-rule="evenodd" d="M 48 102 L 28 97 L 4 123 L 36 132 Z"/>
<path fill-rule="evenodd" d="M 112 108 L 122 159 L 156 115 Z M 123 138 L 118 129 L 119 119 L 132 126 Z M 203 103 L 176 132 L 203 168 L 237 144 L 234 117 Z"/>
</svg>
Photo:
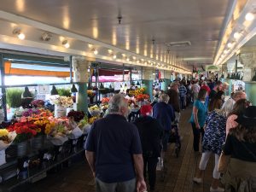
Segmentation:
<svg viewBox="0 0 256 192">
<path fill-rule="evenodd" d="M 88 67 L 90 61 L 84 57 L 73 56 L 72 58 L 74 81 L 79 85 L 78 111 L 88 112 L 87 83 L 89 81 Z"/>
</svg>

